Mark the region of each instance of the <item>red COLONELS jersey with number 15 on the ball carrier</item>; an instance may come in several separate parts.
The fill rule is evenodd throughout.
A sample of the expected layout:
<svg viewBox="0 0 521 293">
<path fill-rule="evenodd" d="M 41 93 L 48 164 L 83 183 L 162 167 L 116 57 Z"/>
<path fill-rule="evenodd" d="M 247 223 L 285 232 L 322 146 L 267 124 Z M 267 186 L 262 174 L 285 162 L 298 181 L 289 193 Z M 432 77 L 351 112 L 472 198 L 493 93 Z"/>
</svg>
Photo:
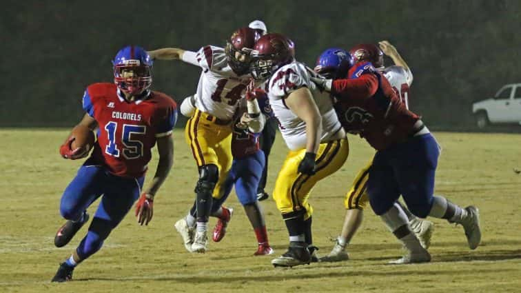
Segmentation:
<svg viewBox="0 0 521 293">
<path fill-rule="evenodd" d="M 83 110 L 99 126 L 89 163 L 133 178 L 145 174 L 156 138 L 172 134 L 177 120 L 177 105 L 166 94 L 147 90 L 141 99 L 127 101 L 114 83 L 89 85 Z"/>
</svg>

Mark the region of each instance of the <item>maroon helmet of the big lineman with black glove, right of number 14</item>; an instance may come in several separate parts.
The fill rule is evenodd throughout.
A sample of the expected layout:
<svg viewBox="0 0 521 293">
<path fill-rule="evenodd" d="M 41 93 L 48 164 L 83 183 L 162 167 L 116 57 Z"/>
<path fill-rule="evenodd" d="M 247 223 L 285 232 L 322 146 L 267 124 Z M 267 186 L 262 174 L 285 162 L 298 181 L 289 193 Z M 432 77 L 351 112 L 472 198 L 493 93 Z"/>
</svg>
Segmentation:
<svg viewBox="0 0 521 293">
<path fill-rule="evenodd" d="M 295 45 L 283 34 L 265 34 L 252 51 L 252 77 L 267 79 L 278 68 L 295 59 Z"/>
</svg>

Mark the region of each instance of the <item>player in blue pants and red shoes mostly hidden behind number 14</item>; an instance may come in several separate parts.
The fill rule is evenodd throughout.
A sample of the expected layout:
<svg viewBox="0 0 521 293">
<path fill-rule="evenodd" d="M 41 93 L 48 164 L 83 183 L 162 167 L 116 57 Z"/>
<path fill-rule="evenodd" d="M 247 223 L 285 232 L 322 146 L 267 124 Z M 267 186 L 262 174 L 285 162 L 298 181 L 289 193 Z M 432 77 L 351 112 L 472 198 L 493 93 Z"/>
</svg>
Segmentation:
<svg viewBox="0 0 521 293">
<path fill-rule="evenodd" d="M 251 84 L 251 83 L 250 83 Z M 269 246 L 265 219 L 261 205 L 258 203 L 256 190 L 261 180 L 261 174 L 265 165 L 265 155 L 259 146 L 259 136 L 265 120 L 272 117 L 271 108 L 267 103 L 267 96 L 256 89 L 256 96 L 246 95 L 241 100 L 238 108 L 238 118 L 233 125 L 232 155 L 234 161 L 223 188 L 223 196 L 212 204 L 212 211 L 221 208 L 235 185 L 238 200 L 243 205 L 249 222 L 254 228 L 258 247 L 254 255 L 272 254 L 274 250 Z M 181 113 L 186 117 L 192 117 L 195 106 L 192 97 L 186 98 L 181 104 Z M 261 114 L 262 113 L 262 114 Z M 261 116 L 261 117 L 258 117 Z M 254 119 L 258 117 L 257 119 Z M 231 210 L 231 208 L 228 208 Z M 212 239 L 221 241 L 225 236 L 226 221 L 217 221 Z"/>
</svg>

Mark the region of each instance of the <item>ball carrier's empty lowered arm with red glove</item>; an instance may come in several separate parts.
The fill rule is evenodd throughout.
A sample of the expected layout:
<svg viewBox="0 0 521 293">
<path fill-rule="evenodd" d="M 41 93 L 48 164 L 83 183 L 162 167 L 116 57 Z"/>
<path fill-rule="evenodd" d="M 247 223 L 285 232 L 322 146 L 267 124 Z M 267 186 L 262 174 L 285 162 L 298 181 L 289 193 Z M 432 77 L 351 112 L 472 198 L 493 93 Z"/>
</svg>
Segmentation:
<svg viewBox="0 0 521 293">
<path fill-rule="evenodd" d="M 136 205 L 136 216 L 140 225 L 148 225 L 152 220 L 154 196 L 163 182 L 165 182 L 172 165 L 174 165 L 174 139 L 172 139 L 172 135 L 158 137 L 156 143 L 159 152 L 156 174 L 150 186 L 141 194 L 141 198 Z"/>
</svg>

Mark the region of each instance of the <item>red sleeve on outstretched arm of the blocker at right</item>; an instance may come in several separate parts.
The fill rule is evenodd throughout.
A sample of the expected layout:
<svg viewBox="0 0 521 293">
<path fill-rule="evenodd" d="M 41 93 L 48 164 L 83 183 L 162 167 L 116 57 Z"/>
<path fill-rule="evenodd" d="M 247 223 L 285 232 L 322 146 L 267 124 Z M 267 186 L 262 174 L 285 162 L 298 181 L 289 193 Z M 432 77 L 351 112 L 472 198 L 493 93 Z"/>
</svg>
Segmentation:
<svg viewBox="0 0 521 293">
<path fill-rule="evenodd" d="M 374 74 L 362 74 L 357 79 L 337 79 L 331 84 L 331 94 L 340 99 L 365 99 L 378 90 L 378 78 Z"/>
</svg>

